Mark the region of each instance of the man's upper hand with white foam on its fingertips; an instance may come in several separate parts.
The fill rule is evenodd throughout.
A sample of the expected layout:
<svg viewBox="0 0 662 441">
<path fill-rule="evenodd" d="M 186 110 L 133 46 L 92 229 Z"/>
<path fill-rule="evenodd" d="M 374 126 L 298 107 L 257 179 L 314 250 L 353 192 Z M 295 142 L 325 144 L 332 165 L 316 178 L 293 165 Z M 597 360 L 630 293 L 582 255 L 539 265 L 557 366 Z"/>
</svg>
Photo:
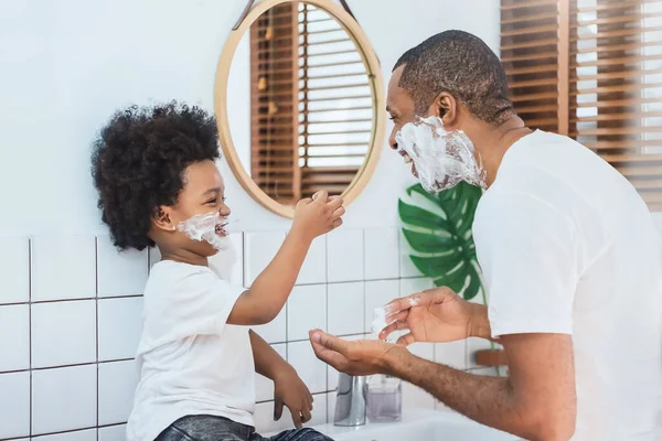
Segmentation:
<svg viewBox="0 0 662 441">
<path fill-rule="evenodd" d="M 380 333 L 380 338 L 386 340 L 397 330 L 409 330 L 408 334 L 398 338 L 398 345 L 455 342 L 470 336 L 490 337 L 485 306 L 466 301 L 449 288 L 436 288 L 394 300 L 386 305 L 386 322 L 391 324 Z M 479 332 L 479 327 L 485 326 L 487 332 Z"/>
</svg>

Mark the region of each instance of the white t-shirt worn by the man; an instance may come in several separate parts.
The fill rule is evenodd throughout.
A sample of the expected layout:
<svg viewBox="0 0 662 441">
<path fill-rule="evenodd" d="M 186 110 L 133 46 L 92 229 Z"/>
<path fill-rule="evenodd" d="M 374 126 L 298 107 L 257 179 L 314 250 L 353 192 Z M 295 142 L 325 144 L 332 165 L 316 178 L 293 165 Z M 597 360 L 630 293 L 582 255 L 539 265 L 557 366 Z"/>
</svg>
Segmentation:
<svg viewBox="0 0 662 441">
<path fill-rule="evenodd" d="M 473 236 L 492 334 L 573 336 L 574 440 L 662 439 L 662 239 L 634 187 L 536 131 L 505 153 Z"/>
</svg>

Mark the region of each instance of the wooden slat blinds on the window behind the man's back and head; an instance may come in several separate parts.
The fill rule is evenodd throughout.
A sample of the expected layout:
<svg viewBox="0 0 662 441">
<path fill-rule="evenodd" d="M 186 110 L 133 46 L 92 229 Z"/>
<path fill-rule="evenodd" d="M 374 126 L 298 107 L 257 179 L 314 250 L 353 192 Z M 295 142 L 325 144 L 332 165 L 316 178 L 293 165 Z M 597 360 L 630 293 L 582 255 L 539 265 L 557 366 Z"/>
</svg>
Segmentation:
<svg viewBox="0 0 662 441">
<path fill-rule="evenodd" d="M 592 149 L 662 209 L 662 0 L 501 7 L 501 56 L 520 116 Z"/>
</svg>

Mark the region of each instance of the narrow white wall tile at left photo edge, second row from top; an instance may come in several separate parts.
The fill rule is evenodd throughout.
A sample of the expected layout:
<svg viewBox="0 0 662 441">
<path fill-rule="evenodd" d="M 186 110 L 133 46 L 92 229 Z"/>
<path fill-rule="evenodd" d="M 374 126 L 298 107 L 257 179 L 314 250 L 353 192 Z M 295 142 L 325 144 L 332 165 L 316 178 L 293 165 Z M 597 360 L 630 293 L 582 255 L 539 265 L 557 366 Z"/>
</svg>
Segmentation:
<svg viewBox="0 0 662 441">
<path fill-rule="evenodd" d="M 30 305 L 0 306 L 0 372 L 30 368 Z"/>
</svg>

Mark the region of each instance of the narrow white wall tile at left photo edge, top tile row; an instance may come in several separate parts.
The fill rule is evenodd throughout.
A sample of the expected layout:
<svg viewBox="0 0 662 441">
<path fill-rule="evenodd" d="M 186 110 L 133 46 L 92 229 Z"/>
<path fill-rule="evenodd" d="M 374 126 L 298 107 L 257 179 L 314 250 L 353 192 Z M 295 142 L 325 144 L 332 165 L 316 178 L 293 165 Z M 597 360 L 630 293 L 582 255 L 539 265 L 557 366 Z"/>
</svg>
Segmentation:
<svg viewBox="0 0 662 441">
<path fill-rule="evenodd" d="M 30 243 L 28 237 L 0 237 L 0 303 L 30 300 Z"/>
</svg>

